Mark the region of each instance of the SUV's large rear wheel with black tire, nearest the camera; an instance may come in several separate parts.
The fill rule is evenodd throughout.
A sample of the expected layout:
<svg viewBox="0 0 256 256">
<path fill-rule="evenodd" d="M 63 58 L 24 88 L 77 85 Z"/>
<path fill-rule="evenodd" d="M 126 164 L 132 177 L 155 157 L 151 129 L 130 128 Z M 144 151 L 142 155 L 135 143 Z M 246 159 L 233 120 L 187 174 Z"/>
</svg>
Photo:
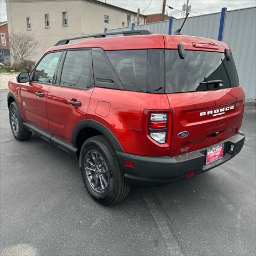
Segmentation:
<svg viewBox="0 0 256 256">
<path fill-rule="evenodd" d="M 90 154 L 92 155 L 95 153 L 99 153 L 99 159 L 101 161 L 100 165 L 107 166 L 107 169 L 105 168 L 107 170 L 105 170 L 105 180 L 108 181 L 108 186 L 106 186 L 105 188 L 106 190 L 103 190 L 101 188 L 101 184 L 98 184 L 98 188 L 97 186 L 93 188 L 92 183 L 89 181 L 89 179 L 91 179 L 92 181 L 95 178 L 93 177 L 93 174 L 96 174 L 97 172 L 91 171 L 91 169 L 96 170 L 96 167 L 90 167 L 91 169 L 86 169 L 86 165 L 88 164 L 87 161 L 89 161 L 88 157 L 90 156 Z M 87 139 L 81 148 L 79 159 L 81 163 L 81 173 L 84 185 L 95 201 L 99 202 L 102 205 L 114 205 L 121 202 L 129 194 L 130 185 L 128 185 L 124 179 L 124 173 L 119 166 L 115 150 L 111 146 L 110 142 L 103 135 L 98 135 Z M 92 162 L 93 164 L 95 163 L 93 161 L 89 162 Z M 100 165 L 97 165 L 97 168 Z M 90 172 L 92 173 L 92 175 L 87 175 Z M 103 175 L 103 171 L 101 173 L 102 174 L 99 175 Z M 97 178 L 95 178 L 94 180 L 96 179 Z M 99 179 L 99 182 L 101 182 L 101 179 Z M 94 185 L 96 183 L 97 182 L 95 182 Z M 102 191 L 96 191 L 97 189 L 101 189 Z"/>
</svg>

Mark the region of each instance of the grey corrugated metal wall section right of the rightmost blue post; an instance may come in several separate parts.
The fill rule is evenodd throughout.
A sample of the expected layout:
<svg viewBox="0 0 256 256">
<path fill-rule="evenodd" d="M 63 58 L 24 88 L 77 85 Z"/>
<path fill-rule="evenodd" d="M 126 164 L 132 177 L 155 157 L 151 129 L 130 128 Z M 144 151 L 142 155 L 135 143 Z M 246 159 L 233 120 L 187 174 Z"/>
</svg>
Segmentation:
<svg viewBox="0 0 256 256">
<path fill-rule="evenodd" d="M 256 7 L 226 13 L 222 41 L 233 51 L 246 97 L 256 98 Z"/>
</svg>

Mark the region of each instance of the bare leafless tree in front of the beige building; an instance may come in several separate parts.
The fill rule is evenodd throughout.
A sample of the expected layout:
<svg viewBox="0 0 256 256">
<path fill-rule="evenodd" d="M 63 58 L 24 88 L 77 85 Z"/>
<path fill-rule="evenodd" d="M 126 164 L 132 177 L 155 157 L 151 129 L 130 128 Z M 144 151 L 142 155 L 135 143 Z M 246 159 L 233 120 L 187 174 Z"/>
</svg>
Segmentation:
<svg viewBox="0 0 256 256">
<path fill-rule="evenodd" d="M 11 55 L 15 62 L 20 64 L 35 53 L 37 41 L 32 35 L 26 33 L 12 33 L 9 37 Z"/>
</svg>

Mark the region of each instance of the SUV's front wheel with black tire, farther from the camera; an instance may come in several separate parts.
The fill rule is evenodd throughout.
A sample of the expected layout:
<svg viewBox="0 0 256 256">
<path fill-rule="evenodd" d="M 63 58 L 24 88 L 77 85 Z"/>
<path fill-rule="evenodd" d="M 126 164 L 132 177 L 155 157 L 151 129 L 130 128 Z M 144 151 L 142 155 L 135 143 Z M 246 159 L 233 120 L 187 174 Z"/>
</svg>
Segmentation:
<svg viewBox="0 0 256 256">
<path fill-rule="evenodd" d="M 15 119 L 15 124 L 13 125 L 13 119 Z M 21 118 L 20 109 L 16 102 L 13 101 L 9 108 L 9 120 L 11 125 L 12 134 L 17 140 L 28 140 L 32 133 L 28 131 L 23 125 L 23 120 Z M 18 127 L 18 129 L 16 129 Z"/>
</svg>

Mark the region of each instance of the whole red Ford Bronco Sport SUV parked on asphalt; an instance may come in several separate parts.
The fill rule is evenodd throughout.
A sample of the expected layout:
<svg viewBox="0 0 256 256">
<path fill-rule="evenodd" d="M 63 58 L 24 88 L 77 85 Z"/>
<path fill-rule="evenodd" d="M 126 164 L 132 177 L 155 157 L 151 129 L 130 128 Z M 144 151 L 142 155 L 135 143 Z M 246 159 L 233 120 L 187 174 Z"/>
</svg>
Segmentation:
<svg viewBox="0 0 256 256">
<path fill-rule="evenodd" d="M 9 82 L 16 139 L 33 132 L 75 154 L 86 189 L 104 205 L 131 185 L 189 178 L 241 150 L 245 94 L 226 43 L 114 34 L 59 41 L 30 75 Z M 68 44 L 86 37 L 94 38 Z"/>
</svg>

